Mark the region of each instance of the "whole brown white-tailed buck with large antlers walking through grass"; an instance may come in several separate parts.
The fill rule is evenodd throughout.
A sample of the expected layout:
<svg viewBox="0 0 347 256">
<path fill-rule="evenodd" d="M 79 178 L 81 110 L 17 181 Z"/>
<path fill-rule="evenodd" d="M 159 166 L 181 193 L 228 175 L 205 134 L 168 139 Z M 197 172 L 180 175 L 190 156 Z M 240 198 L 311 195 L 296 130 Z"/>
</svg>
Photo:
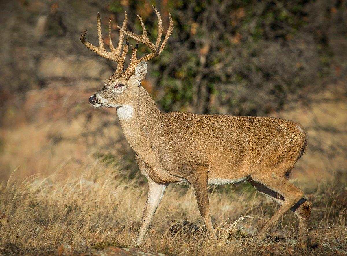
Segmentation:
<svg viewBox="0 0 347 256">
<path fill-rule="evenodd" d="M 256 190 L 280 204 L 279 209 L 263 225 L 257 238 L 266 234 L 289 210 L 299 220 L 299 235 L 306 236 L 311 202 L 304 192 L 288 182 L 290 170 L 302 156 L 306 135 L 295 123 L 270 117 L 197 115 L 185 112 L 162 113 L 150 94 L 141 86 L 147 72 L 146 61 L 158 56 L 168 42 L 174 27 L 169 13 L 169 27 L 162 39 L 162 19 L 158 16 L 155 44 L 147 36 L 143 20 L 138 16 L 143 34 L 127 31 L 127 14 L 119 29 L 117 48 L 112 45 L 111 20 L 109 42 L 105 50 L 98 14 L 99 46 L 81 35 L 82 43 L 100 56 L 117 62 L 114 74 L 99 92 L 92 95 L 95 107 L 116 108 L 122 130 L 135 152 L 141 173 L 148 179 L 148 197 L 143 211 L 136 244 L 141 245 L 153 215 L 171 182 L 192 185 L 197 205 L 208 232 L 214 236 L 208 198 L 208 185 L 236 184 L 248 181 Z M 129 41 L 135 40 L 129 66 L 124 70 Z M 150 54 L 137 59 L 138 41 L 148 46 Z"/>
</svg>

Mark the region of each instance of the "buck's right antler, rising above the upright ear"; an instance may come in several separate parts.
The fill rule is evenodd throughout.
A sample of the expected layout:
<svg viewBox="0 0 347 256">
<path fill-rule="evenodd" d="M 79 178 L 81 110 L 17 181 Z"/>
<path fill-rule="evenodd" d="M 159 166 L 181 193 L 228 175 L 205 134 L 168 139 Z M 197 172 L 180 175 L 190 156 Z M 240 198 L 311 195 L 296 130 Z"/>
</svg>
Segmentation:
<svg viewBox="0 0 347 256">
<path fill-rule="evenodd" d="M 160 42 L 161 42 L 161 35 L 162 35 L 162 32 L 163 32 L 163 27 L 162 27 L 162 23 L 161 23 L 161 16 L 160 16 L 158 10 L 153 5 L 152 5 L 152 7 L 153 7 L 156 15 L 158 16 L 158 36 L 156 38 L 155 44 L 153 44 L 151 42 L 151 40 L 148 38 L 145 25 L 144 25 L 143 20 L 141 19 L 141 17 L 139 15 L 137 15 L 137 17 L 139 18 L 139 20 L 141 22 L 141 27 L 142 27 L 142 30 L 143 30 L 143 34 L 142 35 L 134 34 L 132 32 L 126 31 L 125 28 L 123 28 L 123 27 L 117 26 L 121 32 L 123 32 L 127 36 L 137 40 L 135 48 L 133 46 L 131 46 L 133 50 L 132 50 L 132 55 L 131 55 L 131 59 L 130 59 L 130 64 L 129 64 L 128 68 L 122 73 L 122 77 L 124 77 L 126 79 L 129 79 L 129 77 L 133 74 L 133 72 L 135 71 L 136 66 L 138 65 L 138 63 L 140 61 L 142 61 L 142 60 L 148 61 L 150 59 L 153 59 L 154 57 L 158 56 L 164 50 L 165 45 L 166 45 L 166 43 L 167 43 L 167 41 L 169 39 L 169 36 L 171 35 L 172 31 L 174 30 L 171 14 L 169 12 L 170 24 L 169 24 L 166 36 L 165 36 L 161 46 L 159 47 Z M 147 45 L 151 49 L 151 51 L 152 51 L 150 54 L 146 54 L 141 59 L 137 59 L 136 58 L 138 41 L 141 42 L 141 43 L 144 43 L 145 45 Z"/>
</svg>

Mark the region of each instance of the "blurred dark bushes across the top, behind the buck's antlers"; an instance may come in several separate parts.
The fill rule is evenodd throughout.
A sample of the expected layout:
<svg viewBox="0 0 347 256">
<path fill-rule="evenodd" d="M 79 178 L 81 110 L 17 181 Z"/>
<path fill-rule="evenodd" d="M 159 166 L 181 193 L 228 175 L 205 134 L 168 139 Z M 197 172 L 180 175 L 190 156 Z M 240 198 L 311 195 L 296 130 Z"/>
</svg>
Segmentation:
<svg viewBox="0 0 347 256">
<path fill-rule="evenodd" d="M 128 29 L 141 33 L 139 14 L 154 40 L 151 4 L 162 14 L 164 28 L 169 11 L 175 26 L 166 50 L 148 63 L 143 83 L 164 111 L 265 115 L 289 101 L 308 100 L 325 80 L 346 74 L 346 1 L 88 0 L 42 2 L 44 8 L 20 1 L 2 8 L 8 20 L 0 32 L 2 48 L 8 49 L 1 52 L 3 98 L 14 101 L 12 95 L 57 84 L 99 88 L 115 65 L 87 50 L 79 35 L 88 29 L 88 40 L 97 44 L 100 12 L 107 44 L 109 20 L 120 24 L 127 11 Z M 138 55 L 147 52 L 140 44 Z M 44 63 L 57 57 L 75 67 L 93 59 L 101 70 L 88 64 L 86 72 L 47 72 L 50 65 Z"/>
</svg>

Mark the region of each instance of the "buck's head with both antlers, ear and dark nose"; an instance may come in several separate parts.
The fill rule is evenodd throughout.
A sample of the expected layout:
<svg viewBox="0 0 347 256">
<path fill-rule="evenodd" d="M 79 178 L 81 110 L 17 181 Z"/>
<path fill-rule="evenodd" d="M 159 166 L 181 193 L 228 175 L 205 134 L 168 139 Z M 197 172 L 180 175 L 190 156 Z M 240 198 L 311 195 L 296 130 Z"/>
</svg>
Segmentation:
<svg viewBox="0 0 347 256">
<path fill-rule="evenodd" d="M 101 88 L 99 92 L 92 95 L 89 99 L 89 102 L 95 108 L 100 106 L 106 106 L 109 108 L 121 107 L 123 105 L 130 105 L 132 101 L 136 99 L 138 95 L 138 90 L 139 90 L 138 87 L 141 85 L 141 80 L 146 76 L 146 73 L 147 73 L 146 61 L 153 59 L 154 57 L 158 56 L 163 51 L 169 39 L 169 36 L 171 35 L 174 29 L 174 27 L 172 26 L 173 23 L 172 23 L 171 14 L 169 13 L 169 17 L 170 17 L 169 28 L 167 30 L 164 41 L 160 45 L 161 36 L 163 32 L 161 16 L 159 12 L 155 9 L 155 7 L 154 6 L 152 7 L 154 8 L 156 15 L 158 16 L 158 36 L 157 36 L 155 44 L 153 44 L 149 40 L 147 36 L 146 28 L 140 16 L 138 16 L 138 18 L 141 22 L 143 34 L 137 35 L 126 30 L 127 21 L 128 21 L 126 13 L 125 13 L 125 19 L 124 19 L 122 27 L 117 26 L 119 29 L 119 41 L 118 41 L 117 48 L 114 48 L 112 44 L 111 20 L 109 22 L 109 41 L 110 41 L 111 52 L 106 51 L 103 44 L 99 13 L 98 13 L 99 46 L 98 47 L 94 46 L 85 39 L 85 34 L 87 33 L 86 30 L 82 33 L 81 42 L 88 49 L 92 50 L 96 54 L 106 59 L 117 62 L 117 69 L 115 73 L 109 79 L 106 80 L 105 86 Z M 131 37 L 137 40 L 136 46 L 135 47 L 131 46 L 132 55 L 130 58 L 130 64 L 126 69 L 124 69 L 124 62 L 125 62 L 126 55 L 128 53 L 129 40 L 127 37 L 126 45 L 123 45 L 124 35 L 127 35 L 128 37 Z M 146 54 L 144 57 L 140 59 L 137 59 L 136 52 L 137 52 L 138 42 L 142 42 L 145 45 L 147 45 L 152 52 L 150 54 Z"/>
</svg>

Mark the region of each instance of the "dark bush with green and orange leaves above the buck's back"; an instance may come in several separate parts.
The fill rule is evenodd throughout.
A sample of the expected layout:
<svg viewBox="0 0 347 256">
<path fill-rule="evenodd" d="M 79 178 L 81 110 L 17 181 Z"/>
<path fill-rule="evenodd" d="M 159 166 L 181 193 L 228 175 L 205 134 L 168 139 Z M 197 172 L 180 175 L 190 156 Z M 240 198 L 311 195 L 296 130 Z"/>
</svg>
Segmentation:
<svg viewBox="0 0 347 256">
<path fill-rule="evenodd" d="M 163 110 L 267 114 L 330 74 L 333 54 L 320 24 L 329 20 L 315 17 L 327 16 L 338 3 L 217 2 L 150 1 L 162 14 L 163 34 L 168 11 L 175 26 L 166 50 L 151 61 L 158 92 L 153 95 Z M 136 33 L 141 26 L 135 14 L 141 14 L 150 37 L 156 37 L 158 24 L 149 2 L 115 1 L 109 10 L 117 16 L 126 10 L 129 20 L 136 21 L 128 29 Z M 140 46 L 138 55 L 146 53 Z"/>
</svg>

